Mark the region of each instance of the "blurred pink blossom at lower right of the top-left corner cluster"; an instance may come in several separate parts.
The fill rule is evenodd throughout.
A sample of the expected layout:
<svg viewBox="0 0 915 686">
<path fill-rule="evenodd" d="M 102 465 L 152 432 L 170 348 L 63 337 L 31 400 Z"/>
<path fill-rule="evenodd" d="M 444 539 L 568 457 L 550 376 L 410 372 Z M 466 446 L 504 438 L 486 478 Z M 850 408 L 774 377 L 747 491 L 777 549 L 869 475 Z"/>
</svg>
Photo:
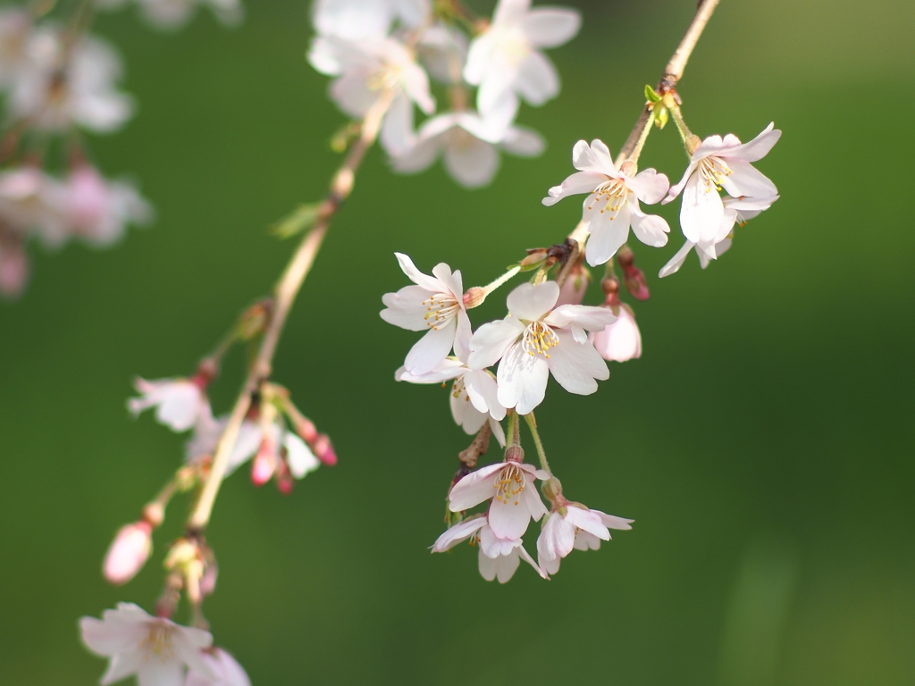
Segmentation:
<svg viewBox="0 0 915 686">
<path fill-rule="evenodd" d="M 92 166 L 76 166 L 67 178 L 65 213 L 70 231 L 96 245 L 124 235 L 128 223 L 145 224 L 153 210 L 124 181 L 106 181 Z"/>
</svg>

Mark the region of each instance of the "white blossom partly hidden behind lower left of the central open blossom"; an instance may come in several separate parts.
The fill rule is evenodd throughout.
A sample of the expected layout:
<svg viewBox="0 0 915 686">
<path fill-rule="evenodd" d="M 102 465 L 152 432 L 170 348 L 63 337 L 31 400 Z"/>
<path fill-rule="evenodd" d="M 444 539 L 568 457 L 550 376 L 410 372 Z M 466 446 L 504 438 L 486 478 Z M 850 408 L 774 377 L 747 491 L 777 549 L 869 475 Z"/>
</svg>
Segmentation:
<svg viewBox="0 0 915 686">
<path fill-rule="evenodd" d="M 465 345 L 458 349 L 463 354 L 466 348 Z M 394 374 L 394 378 L 410 383 L 442 383 L 454 380 L 450 404 L 451 415 L 458 426 L 468 434 L 476 434 L 484 423 L 489 422 L 499 445 L 505 445 L 505 432 L 502 431 L 500 422 L 505 418 L 506 410 L 499 402 L 496 380 L 490 371 L 471 370 L 464 360 L 446 358 L 434 370 L 425 374 L 414 374 L 401 367 Z"/>
</svg>

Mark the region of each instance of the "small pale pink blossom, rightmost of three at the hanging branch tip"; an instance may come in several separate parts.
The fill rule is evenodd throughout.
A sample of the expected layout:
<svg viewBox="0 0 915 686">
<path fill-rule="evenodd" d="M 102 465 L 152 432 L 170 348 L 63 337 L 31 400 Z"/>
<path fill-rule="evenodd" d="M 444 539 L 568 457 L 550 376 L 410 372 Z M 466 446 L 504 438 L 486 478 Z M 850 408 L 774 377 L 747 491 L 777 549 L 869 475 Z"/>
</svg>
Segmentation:
<svg viewBox="0 0 915 686">
<path fill-rule="evenodd" d="M 565 503 L 544 521 L 537 539 L 537 560 L 544 572 L 554 574 L 573 548 L 597 550 L 600 541 L 610 540 L 608 529 L 628 531 L 633 521 L 605 514 L 598 509 L 588 509 L 578 503 Z"/>
</svg>

